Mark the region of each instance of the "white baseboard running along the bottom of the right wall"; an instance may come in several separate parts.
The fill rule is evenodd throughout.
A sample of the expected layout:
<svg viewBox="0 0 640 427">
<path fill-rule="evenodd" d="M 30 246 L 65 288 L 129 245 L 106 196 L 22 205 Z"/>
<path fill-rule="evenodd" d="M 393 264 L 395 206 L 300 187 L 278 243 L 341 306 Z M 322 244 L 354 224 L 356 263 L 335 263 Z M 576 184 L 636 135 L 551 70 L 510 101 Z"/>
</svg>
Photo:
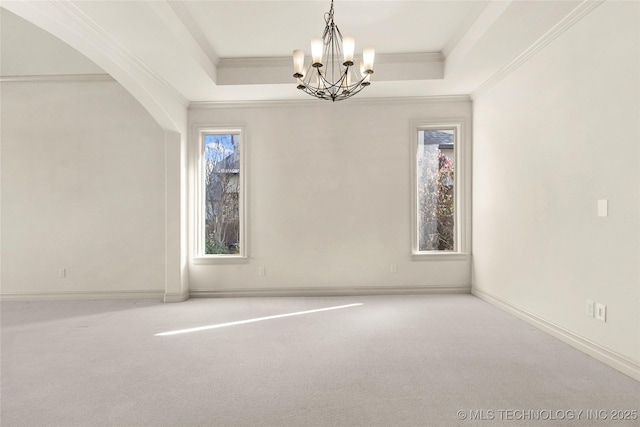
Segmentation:
<svg viewBox="0 0 640 427">
<path fill-rule="evenodd" d="M 588 354 L 594 359 L 622 372 L 631 378 L 640 381 L 640 364 L 635 362 L 621 354 L 611 351 L 599 344 L 594 343 L 580 335 L 577 335 L 567 329 L 562 328 L 554 323 L 551 323 L 535 314 L 525 310 L 522 307 L 492 295 L 486 291 L 473 287 L 471 293 L 478 298 L 494 305 L 522 320 L 529 323 L 532 326 L 548 333 L 549 335 L 558 338 L 570 346 Z"/>
</svg>

